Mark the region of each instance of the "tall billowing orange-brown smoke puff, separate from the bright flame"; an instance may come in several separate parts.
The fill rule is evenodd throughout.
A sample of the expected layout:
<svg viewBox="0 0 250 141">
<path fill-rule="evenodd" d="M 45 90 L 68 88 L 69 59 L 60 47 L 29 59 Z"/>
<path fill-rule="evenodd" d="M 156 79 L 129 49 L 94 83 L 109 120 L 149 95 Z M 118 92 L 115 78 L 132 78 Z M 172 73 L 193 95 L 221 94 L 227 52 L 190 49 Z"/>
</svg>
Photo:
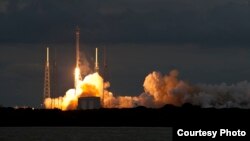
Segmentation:
<svg viewBox="0 0 250 141">
<path fill-rule="evenodd" d="M 191 92 L 191 87 L 178 80 L 178 71 L 172 70 L 169 75 L 152 72 L 144 81 L 145 94 L 153 97 L 152 107 L 162 107 L 165 104 L 181 105 L 183 97 Z"/>
</svg>

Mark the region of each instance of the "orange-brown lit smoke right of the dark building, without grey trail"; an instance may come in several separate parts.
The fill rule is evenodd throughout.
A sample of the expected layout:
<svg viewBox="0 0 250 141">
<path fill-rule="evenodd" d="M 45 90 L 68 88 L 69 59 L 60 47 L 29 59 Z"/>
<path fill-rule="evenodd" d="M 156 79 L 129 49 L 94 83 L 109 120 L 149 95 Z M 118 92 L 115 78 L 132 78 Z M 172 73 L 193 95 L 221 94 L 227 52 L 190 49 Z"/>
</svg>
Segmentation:
<svg viewBox="0 0 250 141">
<path fill-rule="evenodd" d="M 116 108 L 130 108 L 135 106 L 146 106 L 159 108 L 165 104 L 181 105 L 183 97 L 192 89 L 177 79 L 178 71 L 173 70 L 169 75 L 162 76 L 159 72 L 149 74 L 144 81 L 145 92 L 137 97 L 119 96 L 113 97 L 110 92 L 105 94 L 109 100 L 109 106 Z"/>
</svg>

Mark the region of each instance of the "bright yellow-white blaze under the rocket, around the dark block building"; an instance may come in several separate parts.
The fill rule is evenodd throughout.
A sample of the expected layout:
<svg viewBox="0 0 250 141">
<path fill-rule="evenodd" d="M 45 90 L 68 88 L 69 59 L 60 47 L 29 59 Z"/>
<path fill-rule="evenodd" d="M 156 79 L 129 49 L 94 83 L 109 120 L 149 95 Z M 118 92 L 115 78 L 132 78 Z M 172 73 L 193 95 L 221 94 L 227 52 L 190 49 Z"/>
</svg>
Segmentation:
<svg viewBox="0 0 250 141">
<path fill-rule="evenodd" d="M 78 98 L 97 96 L 102 98 L 103 79 L 96 72 L 80 78 L 80 69 L 75 68 L 75 89 L 69 89 L 63 97 L 47 98 L 44 101 L 46 109 L 73 110 L 77 108 Z"/>
</svg>

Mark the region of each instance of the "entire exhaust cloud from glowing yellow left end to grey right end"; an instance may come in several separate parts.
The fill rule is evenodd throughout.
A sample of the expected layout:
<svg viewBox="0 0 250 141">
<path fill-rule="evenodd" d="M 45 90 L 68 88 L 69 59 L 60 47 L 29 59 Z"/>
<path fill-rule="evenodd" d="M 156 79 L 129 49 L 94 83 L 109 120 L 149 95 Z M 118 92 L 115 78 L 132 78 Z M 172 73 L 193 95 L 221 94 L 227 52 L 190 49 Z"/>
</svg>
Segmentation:
<svg viewBox="0 0 250 141">
<path fill-rule="evenodd" d="M 103 100 L 104 108 L 160 108 L 166 104 L 181 106 L 185 103 L 203 108 L 250 108 L 250 83 L 247 81 L 231 85 L 190 85 L 179 80 L 178 75 L 177 70 L 166 75 L 154 71 L 144 80 L 144 92 L 131 97 L 114 96 L 108 91 L 110 83 L 103 82 L 98 73 L 93 73 L 79 81 L 76 89 L 69 89 L 65 96 L 47 98 L 44 103 L 46 108 L 74 110 L 77 108 L 79 97 L 97 96 Z"/>
</svg>

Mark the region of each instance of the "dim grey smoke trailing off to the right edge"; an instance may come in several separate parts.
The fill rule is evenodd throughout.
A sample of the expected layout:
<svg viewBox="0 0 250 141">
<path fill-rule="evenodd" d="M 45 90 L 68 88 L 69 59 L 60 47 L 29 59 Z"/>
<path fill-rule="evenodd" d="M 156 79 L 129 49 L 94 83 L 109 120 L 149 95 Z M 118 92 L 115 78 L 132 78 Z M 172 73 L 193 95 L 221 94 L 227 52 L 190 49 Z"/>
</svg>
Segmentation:
<svg viewBox="0 0 250 141">
<path fill-rule="evenodd" d="M 199 92 L 186 97 L 185 101 L 201 107 L 250 108 L 250 83 L 242 81 L 227 85 L 197 85 Z"/>
</svg>

